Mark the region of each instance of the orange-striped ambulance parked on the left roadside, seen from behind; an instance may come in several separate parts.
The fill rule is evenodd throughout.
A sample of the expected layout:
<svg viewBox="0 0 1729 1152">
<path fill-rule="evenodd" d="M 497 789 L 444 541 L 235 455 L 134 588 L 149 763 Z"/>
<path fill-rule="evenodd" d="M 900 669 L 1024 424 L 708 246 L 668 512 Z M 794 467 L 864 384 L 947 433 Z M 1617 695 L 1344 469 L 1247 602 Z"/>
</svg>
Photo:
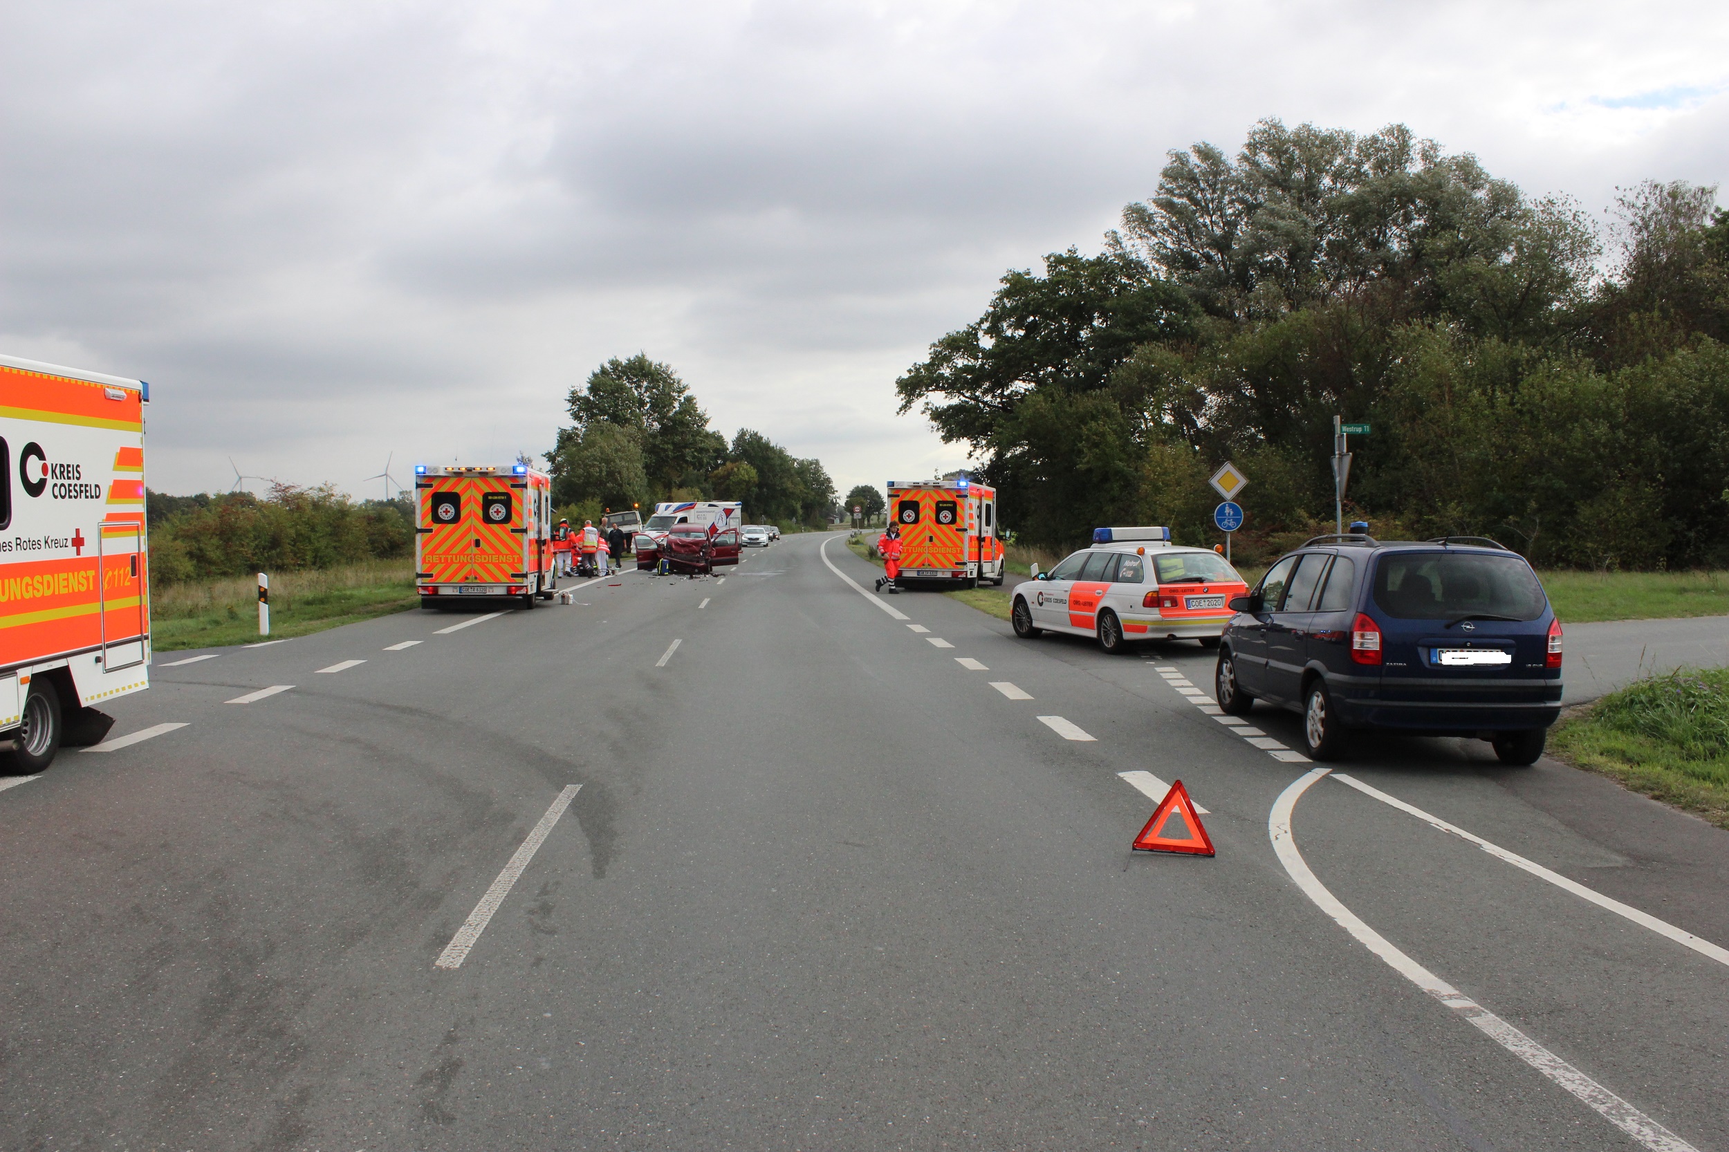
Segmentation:
<svg viewBox="0 0 1729 1152">
<path fill-rule="evenodd" d="M 415 585 L 422 607 L 508 597 L 534 607 L 558 586 L 552 477 L 526 464 L 415 465 Z"/>
</svg>

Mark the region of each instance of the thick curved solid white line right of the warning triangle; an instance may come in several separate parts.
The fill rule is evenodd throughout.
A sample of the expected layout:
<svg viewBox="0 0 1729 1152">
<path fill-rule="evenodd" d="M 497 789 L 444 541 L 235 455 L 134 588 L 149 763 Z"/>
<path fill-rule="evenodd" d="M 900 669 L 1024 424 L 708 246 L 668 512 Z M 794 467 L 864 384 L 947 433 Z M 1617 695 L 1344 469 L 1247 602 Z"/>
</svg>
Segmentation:
<svg viewBox="0 0 1729 1152">
<path fill-rule="evenodd" d="M 1525 1060 L 1525 1064 L 1532 1066 L 1566 1091 L 1573 1093 L 1589 1109 L 1644 1147 L 1653 1152 L 1698 1152 L 1698 1149 L 1691 1143 L 1668 1131 L 1655 1119 L 1627 1104 L 1613 1091 L 1591 1079 L 1577 1067 L 1554 1055 L 1406 953 L 1394 948 L 1387 938 L 1357 918 L 1357 913 L 1342 905 L 1338 898 L 1316 879 L 1314 872 L 1311 872 L 1309 865 L 1304 861 L 1302 853 L 1297 851 L 1297 841 L 1292 837 L 1292 811 L 1297 808 L 1298 797 L 1309 790 L 1309 785 L 1324 777 L 1328 771 L 1328 768 L 1314 768 L 1293 780 L 1290 787 L 1279 792 L 1278 801 L 1273 803 L 1273 811 L 1267 813 L 1267 835 L 1273 837 L 1273 851 L 1278 854 L 1279 863 L 1285 865 L 1285 872 L 1292 877 L 1292 880 L 1295 880 L 1297 887 L 1302 889 L 1302 894 L 1314 901 L 1316 908 L 1330 915 L 1335 924 L 1350 932 L 1359 944 L 1385 960 L 1390 969 L 1399 972 L 1399 976 L 1406 977 L 1430 996 L 1452 1008 L 1458 1015 L 1463 1015 L 1485 1036 L 1516 1055 L 1520 1060 Z"/>
</svg>

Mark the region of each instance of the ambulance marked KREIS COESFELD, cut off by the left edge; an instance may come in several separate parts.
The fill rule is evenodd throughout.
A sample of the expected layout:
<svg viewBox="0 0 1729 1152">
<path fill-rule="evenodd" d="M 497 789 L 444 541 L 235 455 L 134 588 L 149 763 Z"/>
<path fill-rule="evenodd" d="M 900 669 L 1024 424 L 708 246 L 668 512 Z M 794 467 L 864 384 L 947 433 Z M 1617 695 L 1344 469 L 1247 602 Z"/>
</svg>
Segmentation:
<svg viewBox="0 0 1729 1152">
<path fill-rule="evenodd" d="M 150 386 L 0 356 L 0 771 L 100 740 L 150 687 Z"/>
</svg>

